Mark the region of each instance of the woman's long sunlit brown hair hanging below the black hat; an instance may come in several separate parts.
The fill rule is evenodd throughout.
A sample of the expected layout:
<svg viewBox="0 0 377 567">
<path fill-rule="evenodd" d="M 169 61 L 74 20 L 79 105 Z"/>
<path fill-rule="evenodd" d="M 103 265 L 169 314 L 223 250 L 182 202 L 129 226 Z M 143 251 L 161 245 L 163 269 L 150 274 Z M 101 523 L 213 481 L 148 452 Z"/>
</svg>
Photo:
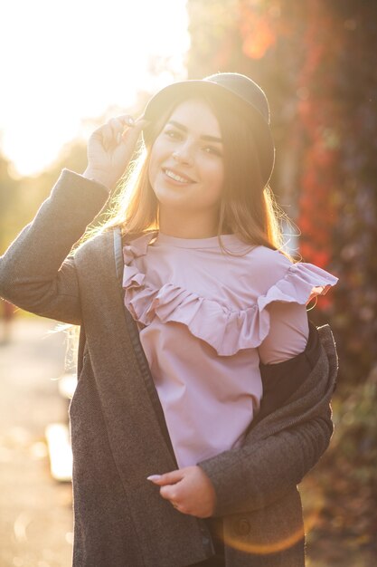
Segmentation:
<svg viewBox="0 0 377 567">
<path fill-rule="evenodd" d="M 195 95 L 198 96 L 198 95 Z M 284 248 L 281 220 L 289 226 L 291 221 L 278 206 L 269 187 L 263 187 L 259 158 L 256 150 L 258 139 L 250 113 L 241 109 L 237 102 L 223 99 L 221 95 L 200 95 L 219 121 L 223 139 L 224 185 L 220 203 L 218 237 L 235 234 L 248 245 L 264 245 L 281 250 L 292 261 L 294 259 Z M 134 159 L 118 184 L 111 198 L 107 219 L 100 231 L 120 226 L 127 237 L 142 235 L 158 229 L 158 201 L 148 176 L 150 150 L 164 128 L 174 108 L 186 96 L 177 98 L 165 109 L 159 120 L 151 123 L 144 134 Z M 84 235 L 87 240 L 97 234 L 98 229 Z"/>
</svg>

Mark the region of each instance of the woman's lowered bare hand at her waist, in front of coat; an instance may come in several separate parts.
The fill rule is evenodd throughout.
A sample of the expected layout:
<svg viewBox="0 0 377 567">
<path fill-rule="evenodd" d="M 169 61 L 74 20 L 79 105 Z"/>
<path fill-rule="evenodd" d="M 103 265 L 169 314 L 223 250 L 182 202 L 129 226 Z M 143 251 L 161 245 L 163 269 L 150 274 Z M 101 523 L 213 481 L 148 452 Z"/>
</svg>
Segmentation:
<svg viewBox="0 0 377 567">
<path fill-rule="evenodd" d="M 216 494 L 209 477 L 200 466 L 185 466 L 165 475 L 148 476 L 161 486 L 160 495 L 182 514 L 208 518 L 213 514 Z"/>
</svg>

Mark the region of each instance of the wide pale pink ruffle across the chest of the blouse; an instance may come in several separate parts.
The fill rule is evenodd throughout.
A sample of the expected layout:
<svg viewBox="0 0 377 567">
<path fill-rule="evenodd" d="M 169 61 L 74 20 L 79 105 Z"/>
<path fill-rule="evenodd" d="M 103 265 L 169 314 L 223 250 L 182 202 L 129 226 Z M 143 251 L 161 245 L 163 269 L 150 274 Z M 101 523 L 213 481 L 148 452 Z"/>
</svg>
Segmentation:
<svg viewBox="0 0 377 567">
<path fill-rule="evenodd" d="M 165 283 L 160 289 L 145 283 L 145 274 L 128 264 L 135 257 L 146 254 L 153 236 L 141 236 L 123 249 L 123 287 L 128 311 L 144 325 L 149 325 L 155 317 L 161 322 L 182 323 L 193 336 L 207 342 L 221 356 L 256 348 L 264 341 L 269 334 L 269 312 L 266 310 L 269 303 L 306 305 L 316 295 L 325 295 L 338 281 L 314 264 L 291 264 L 287 274 L 267 293 L 260 295 L 256 303 L 247 309 L 232 311 L 174 283 Z"/>
</svg>

